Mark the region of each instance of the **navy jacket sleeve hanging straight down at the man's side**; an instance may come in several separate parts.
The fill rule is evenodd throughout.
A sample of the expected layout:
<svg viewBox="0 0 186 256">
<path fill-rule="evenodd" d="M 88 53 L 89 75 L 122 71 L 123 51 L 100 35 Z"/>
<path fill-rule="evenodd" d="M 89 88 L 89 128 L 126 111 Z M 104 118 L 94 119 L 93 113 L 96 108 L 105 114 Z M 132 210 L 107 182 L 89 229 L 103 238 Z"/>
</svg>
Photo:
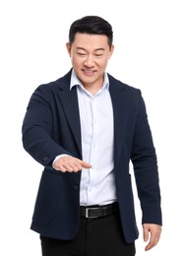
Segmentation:
<svg viewBox="0 0 186 256">
<path fill-rule="evenodd" d="M 160 189 L 155 146 L 146 105 L 140 97 L 132 146 L 138 196 L 143 213 L 142 223 L 161 224 Z"/>
</svg>

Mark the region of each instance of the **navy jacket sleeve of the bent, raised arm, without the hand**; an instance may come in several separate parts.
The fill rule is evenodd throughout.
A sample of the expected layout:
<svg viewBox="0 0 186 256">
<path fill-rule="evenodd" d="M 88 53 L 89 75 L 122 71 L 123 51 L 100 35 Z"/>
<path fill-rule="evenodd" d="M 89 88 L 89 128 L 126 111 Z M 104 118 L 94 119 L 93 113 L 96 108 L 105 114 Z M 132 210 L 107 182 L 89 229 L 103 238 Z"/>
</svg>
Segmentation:
<svg viewBox="0 0 186 256">
<path fill-rule="evenodd" d="M 31 157 L 46 167 L 51 167 L 56 156 L 71 155 L 52 137 L 52 92 L 46 85 L 39 86 L 32 94 L 22 126 L 23 145 Z"/>
</svg>

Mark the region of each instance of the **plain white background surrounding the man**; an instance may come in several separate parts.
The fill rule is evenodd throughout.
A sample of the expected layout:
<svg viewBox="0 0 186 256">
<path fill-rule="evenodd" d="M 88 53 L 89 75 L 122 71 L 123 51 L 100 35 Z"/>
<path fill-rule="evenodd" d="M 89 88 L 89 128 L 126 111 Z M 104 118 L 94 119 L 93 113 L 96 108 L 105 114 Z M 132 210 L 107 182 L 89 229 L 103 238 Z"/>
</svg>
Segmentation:
<svg viewBox="0 0 186 256">
<path fill-rule="evenodd" d="M 162 196 L 158 245 L 138 256 L 186 255 L 186 8 L 181 0 L 0 2 L 0 255 L 39 256 L 31 215 L 42 166 L 23 150 L 21 127 L 33 90 L 71 67 L 65 43 L 74 20 L 99 15 L 114 31 L 107 71 L 140 88 L 154 134 Z M 179 253 L 178 253 L 179 249 Z"/>
</svg>

